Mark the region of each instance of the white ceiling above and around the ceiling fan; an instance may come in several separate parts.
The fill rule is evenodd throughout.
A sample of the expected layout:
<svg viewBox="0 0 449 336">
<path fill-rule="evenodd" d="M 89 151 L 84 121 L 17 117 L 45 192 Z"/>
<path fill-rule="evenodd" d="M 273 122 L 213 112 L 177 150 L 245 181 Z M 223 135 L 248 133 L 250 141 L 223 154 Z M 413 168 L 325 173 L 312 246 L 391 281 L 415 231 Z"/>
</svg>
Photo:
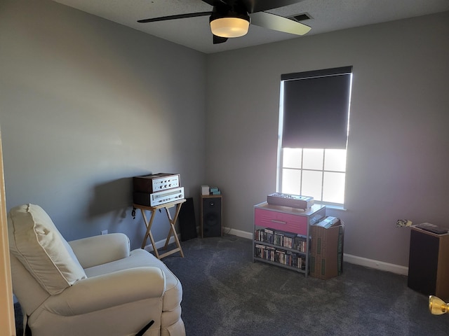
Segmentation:
<svg viewBox="0 0 449 336">
<path fill-rule="evenodd" d="M 226 43 L 213 45 L 208 16 L 163 22 L 137 22 L 146 18 L 212 10 L 212 6 L 201 0 L 53 1 L 205 53 L 244 48 L 289 38 L 302 38 L 251 25 L 246 36 L 230 38 Z M 302 0 L 290 6 L 269 10 L 269 12 L 286 17 L 309 13 L 312 19 L 303 21 L 311 27 L 311 31 L 304 35 L 308 36 L 446 10 L 449 10 L 449 0 Z M 417 34 L 419 31 L 419 27 L 416 27 Z"/>
</svg>

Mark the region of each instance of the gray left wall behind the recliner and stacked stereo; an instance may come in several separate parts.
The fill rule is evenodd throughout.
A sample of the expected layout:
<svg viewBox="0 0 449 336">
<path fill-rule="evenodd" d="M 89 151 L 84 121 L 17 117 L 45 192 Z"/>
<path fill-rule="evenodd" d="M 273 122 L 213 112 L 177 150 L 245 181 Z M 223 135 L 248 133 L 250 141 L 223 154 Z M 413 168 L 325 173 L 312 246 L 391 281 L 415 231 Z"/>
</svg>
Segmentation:
<svg viewBox="0 0 449 336">
<path fill-rule="evenodd" d="M 8 210 L 39 204 L 69 240 L 107 229 L 140 247 L 132 176 L 180 173 L 187 197 L 198 194 L 202 53 L 53 1 L 2 0 L 0 73 Z"/>
</svg>

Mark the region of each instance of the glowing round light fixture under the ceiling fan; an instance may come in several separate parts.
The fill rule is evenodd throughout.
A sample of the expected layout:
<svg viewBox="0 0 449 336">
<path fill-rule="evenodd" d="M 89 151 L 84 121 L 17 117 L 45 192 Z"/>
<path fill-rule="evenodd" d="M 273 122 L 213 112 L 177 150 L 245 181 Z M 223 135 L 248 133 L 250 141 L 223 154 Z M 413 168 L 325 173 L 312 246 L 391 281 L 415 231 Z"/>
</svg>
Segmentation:
<svg viewBox="0 0 449 336">
<path fill-rule="evenodd" d="M 250 27 L 249 15 L 229 13 L 226 16 L 210 16 L 210 30 L 220 37 L 240 37 L 248 33 Z"/>
</svg>

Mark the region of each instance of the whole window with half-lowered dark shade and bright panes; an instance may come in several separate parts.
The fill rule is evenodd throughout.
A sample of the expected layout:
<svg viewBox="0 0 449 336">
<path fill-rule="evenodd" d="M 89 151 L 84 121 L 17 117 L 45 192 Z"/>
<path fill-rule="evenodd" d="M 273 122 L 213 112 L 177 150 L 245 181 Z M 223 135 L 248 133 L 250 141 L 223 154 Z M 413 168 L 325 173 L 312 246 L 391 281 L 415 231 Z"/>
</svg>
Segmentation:
<svg viewBox="0 0 449 336">
<path fill-rule="evenodd" d="M 281 76 L 277 190 L 343 206 L 351 66 Z"/>
</svg>

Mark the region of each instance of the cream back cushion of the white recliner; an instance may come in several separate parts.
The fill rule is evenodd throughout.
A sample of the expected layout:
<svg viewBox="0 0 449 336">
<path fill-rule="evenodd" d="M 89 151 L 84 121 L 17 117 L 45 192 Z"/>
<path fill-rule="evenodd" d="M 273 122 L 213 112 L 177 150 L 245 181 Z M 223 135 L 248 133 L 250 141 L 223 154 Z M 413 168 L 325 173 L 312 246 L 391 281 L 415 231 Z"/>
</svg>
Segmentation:
<svg viewBox="0 0 449 336">
<path fill-rule="evenodd" d="M 87 277 L 72 248 L 38 205 L 9 211 L 8 236 L 11 253 L 51 295 Z"/>
</svg>

